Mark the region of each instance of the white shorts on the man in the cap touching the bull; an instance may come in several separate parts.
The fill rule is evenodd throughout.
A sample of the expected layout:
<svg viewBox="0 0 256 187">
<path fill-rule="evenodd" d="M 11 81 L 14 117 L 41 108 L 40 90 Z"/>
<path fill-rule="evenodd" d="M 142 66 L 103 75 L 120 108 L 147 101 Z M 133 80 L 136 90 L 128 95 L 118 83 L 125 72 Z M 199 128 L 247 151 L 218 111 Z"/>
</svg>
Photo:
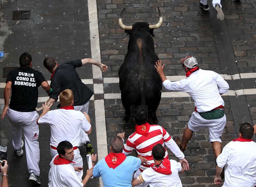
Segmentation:
<svg viewBox="0 0 256 187">
<path fill-rule="evenodd" d="M 221 143 L 220 137 L 226 122 L 227 120 L 225 114 L 220 119 L 204 119 L 198 112 L 194 111 L 188 121 L 188 129 L 191 131 L 198 131 L 208 127 L 210 142 L 219 141 Z"/>
</svg>

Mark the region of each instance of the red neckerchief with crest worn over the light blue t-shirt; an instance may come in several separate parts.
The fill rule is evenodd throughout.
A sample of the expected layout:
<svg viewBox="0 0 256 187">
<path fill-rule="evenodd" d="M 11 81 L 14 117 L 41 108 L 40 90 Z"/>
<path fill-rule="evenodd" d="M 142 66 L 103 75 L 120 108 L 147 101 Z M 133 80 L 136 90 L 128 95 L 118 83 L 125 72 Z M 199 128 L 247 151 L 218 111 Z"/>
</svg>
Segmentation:
<svg viewBox="0 0 256 187">
<path fill-rule="evenodd" d="M 108 164 L 108 167 L 113 169 L 123 163 L 125 159 L 126 156 L 124 155 L 124 153 L 109 153 L 105 157 L 105 161 Z"/>
</svg>

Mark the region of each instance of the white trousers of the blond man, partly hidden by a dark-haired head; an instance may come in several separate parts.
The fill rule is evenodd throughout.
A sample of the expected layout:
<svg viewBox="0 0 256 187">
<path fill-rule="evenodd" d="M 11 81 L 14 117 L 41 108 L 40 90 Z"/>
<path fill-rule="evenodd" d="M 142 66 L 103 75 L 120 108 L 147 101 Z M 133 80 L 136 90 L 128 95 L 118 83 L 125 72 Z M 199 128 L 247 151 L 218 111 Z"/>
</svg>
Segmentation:
<svg viewBox="0 0 256 187">
<path fill-rule="evenodd" d="M 53 148 L 50 148 L 50 152 L 51 152 L 51 156 L 52 158 L 56 155 L 58 155 L 58 152 L 57 150 L 53 149 Z M 76 162 L 76 164 L 73 164 L 74 167 L 83 167 L 83 159 L 82 159 L 82 156 L 80 155 L 80 150 L 79 148 L 77 148 L 76 150 L 74 150 L 74 160 L 73 162 Z M 75 171 L 76 172 L 76 175 L 78 176 L 79 180 L 82 181 L 82 176 L 83 176 L 83 170 L 78 172 L 78 171 Z M 51 174 L 49 172 L 49 176 L 48 177 L 51 177 Z M 51 181 L 51 178 L 49 178 L 49 181 Z"/>
</svg>

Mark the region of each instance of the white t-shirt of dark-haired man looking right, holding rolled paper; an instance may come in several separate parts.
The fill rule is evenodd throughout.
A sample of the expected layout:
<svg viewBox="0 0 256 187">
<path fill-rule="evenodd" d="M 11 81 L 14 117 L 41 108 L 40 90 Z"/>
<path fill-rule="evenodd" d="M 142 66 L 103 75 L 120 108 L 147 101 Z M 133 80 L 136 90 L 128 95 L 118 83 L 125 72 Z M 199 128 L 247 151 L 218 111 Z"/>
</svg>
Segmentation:
<svg viewBox="0 0 256 187">
<path fill-rule="evenodd" d="M 55 165 L 53 160 L 57 155 L 55 155 L 50 163 L 51 166 L 51 183 L 49 187 L 81 187 L 84 186 L 83 183 L 78 179 L 73 163 Z"/>
</svg>

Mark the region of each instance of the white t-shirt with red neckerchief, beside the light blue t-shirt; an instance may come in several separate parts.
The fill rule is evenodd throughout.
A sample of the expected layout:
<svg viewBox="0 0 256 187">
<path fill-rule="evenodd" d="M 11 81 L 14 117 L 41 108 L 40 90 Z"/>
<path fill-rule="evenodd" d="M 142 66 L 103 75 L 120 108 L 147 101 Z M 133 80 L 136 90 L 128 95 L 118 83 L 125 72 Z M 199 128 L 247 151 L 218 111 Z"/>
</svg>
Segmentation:
<svg viewBox="0 0 256 187">
<path fill-rule="evenodd" d="M 164 160 L 161 164 L 164 163 Z M 178 174 L 182 170 L 180 162 L 168 159 L 166 162 L 169 162 L 169 165 L 163 164 L 154 167 L 154 164 L 151 164 L 151 167 L 145 169 L 137 178 L 149 184 L 150 187 L 182 187 Z"/>
</svg>

